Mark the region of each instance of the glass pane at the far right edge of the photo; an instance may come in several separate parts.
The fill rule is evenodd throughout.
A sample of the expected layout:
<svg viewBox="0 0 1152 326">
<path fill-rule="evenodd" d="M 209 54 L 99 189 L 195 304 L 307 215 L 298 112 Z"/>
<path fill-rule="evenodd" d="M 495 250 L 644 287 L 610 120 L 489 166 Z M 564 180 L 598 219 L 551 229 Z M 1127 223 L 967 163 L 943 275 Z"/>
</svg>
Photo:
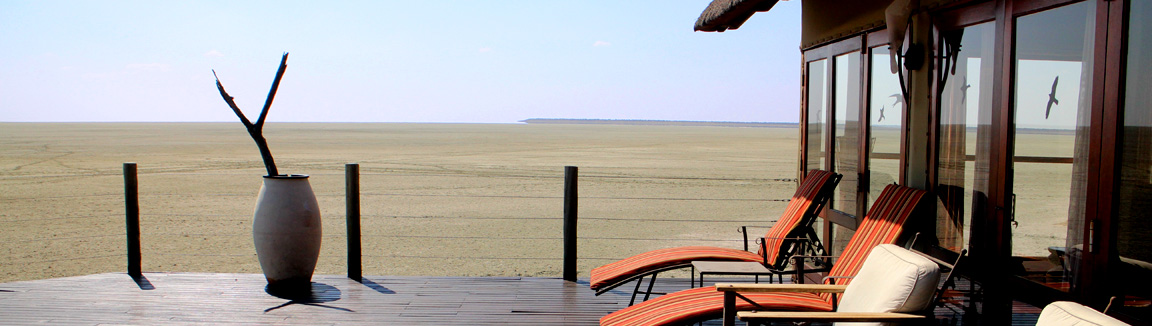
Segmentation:
<svg viewBox="0 0 1152 326">
<path fill-rule="evenodd" d="M 1122 288 L 1126 313 L 1152 318 L 1152 2 L 1132 1 L 1128 26 L 1128 67 L 1124 81 L 1124 127 L 1120 153 L 1120 192 L 1116 214 L 1116 256 L 1109 257 Z"/>
</svg>

